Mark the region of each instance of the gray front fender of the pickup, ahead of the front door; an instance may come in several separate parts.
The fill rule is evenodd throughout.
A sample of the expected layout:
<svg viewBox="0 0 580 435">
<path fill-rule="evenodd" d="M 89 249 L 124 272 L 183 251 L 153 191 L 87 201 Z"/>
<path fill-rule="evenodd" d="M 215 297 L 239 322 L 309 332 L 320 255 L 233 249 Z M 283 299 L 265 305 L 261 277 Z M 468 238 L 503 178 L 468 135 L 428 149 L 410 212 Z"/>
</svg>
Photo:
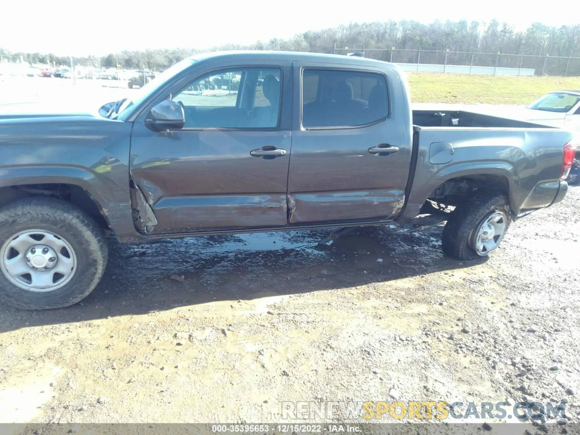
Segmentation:
<svg viewBox="0 0 580 435">
<path fill-rule="evenodd" d="M 79 186 L 119 240 L 135 238 L 129 195 L 131 128 L 126 122 L 88 116 L 0 122 L 0 187 Z"/>
</svg>

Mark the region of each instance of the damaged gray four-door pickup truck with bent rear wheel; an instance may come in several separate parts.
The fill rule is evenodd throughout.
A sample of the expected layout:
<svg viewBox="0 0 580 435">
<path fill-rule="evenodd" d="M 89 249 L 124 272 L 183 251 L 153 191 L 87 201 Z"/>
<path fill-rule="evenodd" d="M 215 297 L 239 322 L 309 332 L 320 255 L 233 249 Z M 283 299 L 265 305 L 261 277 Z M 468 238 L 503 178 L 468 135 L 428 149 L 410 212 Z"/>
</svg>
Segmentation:
<svg viewBox="0 0 580 435">
<path fill-rule="evenodd" d="M 414 112 L 404 73 L 361 57 L 210 53 L 127 93 L 93 113 L 0 116 L 2 302 L 85 298 L 108 234 L 446 221 L 446 255 L 486 256 L 510 221 L 564 198 L 574 157 L 563 130 Z"/>
</svg>

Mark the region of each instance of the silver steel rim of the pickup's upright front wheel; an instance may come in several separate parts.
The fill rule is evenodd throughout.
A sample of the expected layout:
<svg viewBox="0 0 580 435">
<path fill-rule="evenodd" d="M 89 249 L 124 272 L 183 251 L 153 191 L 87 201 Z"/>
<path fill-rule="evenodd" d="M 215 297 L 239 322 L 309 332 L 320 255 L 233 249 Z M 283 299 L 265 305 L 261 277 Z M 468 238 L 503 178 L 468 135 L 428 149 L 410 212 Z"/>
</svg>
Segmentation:
<svg viewBox="0 0 580 435">
<path fill-rule="evenodd" d="M 52 292 L 73 278 L 77 256 L 70 243 L 52 231 L 20 231 L 2 245 L 0 270 L 23 290 Z"/>
</svg>

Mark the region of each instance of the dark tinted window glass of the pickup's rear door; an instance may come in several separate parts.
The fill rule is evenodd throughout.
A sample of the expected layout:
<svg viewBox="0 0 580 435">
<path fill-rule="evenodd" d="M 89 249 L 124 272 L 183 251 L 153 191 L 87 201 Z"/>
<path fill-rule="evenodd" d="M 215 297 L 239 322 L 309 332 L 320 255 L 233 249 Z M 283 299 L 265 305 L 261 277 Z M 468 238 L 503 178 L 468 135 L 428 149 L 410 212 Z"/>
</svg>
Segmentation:
<svg viewBox="0 0 580 435">
<path fill-rule="evenodd" d="M 387 82 L 381 74 L 339 70 L 302 73 L 302 126 L 354 127 L 389 114 Z"/>
</svg>

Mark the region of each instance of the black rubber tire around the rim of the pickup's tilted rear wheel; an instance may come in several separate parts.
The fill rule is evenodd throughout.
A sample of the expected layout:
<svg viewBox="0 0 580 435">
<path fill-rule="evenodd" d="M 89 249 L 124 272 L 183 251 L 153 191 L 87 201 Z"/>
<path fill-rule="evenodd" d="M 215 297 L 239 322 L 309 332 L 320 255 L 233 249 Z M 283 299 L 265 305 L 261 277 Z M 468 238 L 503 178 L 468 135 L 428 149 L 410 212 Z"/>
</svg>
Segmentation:
<svg viewBox="0 0 580 435">
<path fill-rule="evenodd" d="M 475 231 L 481 226 L 486 216 L 493 212 L 504 212 L 507 216 L 505 231 L 510 224 L 510 212 L 507 198 L 498 193 L 481 194 L 457 206 L 451 213 L 445 228 L 441 249 L 443 253 L 456 260 L 481 258 L 473 247 Z M 505 233 L 504 231 L 504 233 Z M 500 241 L 501 242 L 501 241 Z"/>
</svg>

